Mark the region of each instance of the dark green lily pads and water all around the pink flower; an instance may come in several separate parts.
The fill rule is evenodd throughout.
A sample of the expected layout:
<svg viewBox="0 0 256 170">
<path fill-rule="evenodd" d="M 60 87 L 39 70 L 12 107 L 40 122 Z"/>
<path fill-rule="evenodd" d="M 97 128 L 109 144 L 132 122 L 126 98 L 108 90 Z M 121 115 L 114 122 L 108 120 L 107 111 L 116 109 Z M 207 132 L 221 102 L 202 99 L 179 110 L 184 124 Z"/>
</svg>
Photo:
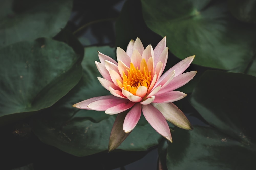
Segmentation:
<svg viewBox="0 0 256 170">
<path fill-rule="evenodd" d="M 256 169 L 255 11 L 256 0 L 2 0 L 0 169 Z M 109 94 L 97 51 L 116 59 L 131 39 L 154 48 L 164 36 L 165 71 L 196 55 L 175 102 L 194 130 L 169 123 L 168 143 L 142 115 L 107 153 L 115 115 L 71 107 Z"/>
</svg>

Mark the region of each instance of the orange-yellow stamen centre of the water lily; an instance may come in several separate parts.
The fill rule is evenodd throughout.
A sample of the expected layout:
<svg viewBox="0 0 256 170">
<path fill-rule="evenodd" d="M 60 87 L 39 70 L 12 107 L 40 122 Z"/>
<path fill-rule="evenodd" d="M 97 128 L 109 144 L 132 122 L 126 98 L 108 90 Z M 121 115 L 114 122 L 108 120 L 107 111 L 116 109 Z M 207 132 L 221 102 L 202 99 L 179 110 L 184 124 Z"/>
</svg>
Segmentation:
<svg viewBox="0 0 256 170">
<path fill-rule="evenodd" d="M 135 68 L 133 63 L 130 63 L 130 71 L 127 70 L 127 75 L 123 72 L 123 83 L 117 81 L 120 88 L 129 91 L 133 95 L 136 95 L 138 87 L 149 87 L 151 81 L 150 71 L 148 71 L 145 59 L 142 59 L 140 69 Z"/>
</svg>

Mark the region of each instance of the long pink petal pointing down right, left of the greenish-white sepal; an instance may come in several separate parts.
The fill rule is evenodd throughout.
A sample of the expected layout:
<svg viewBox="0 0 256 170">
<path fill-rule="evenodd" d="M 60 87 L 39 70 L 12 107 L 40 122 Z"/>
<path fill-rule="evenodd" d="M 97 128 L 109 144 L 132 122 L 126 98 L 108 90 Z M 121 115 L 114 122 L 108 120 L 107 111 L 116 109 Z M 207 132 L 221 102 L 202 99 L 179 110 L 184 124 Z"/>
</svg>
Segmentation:
<svg viewBox="0 0 256 170">
<path fill-rule="evenodd" d="M 156 132 L 172 142 L 170 128 L 162 113 L 151 104 L 143 105 L 142 112 L 148 123 L 156 130 Z"/>
</svg>

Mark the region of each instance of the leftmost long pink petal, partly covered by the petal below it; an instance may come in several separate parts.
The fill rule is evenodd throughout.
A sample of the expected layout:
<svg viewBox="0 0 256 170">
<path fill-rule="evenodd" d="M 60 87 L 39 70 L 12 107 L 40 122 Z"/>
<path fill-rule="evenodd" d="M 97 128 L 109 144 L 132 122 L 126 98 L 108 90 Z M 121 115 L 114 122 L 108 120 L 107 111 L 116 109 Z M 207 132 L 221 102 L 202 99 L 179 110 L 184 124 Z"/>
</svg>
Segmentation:
<svg viewBox="0 0 256 170">
<path fill-rule="evenodd" d="M 88 108 L 87 106 L 89 104 L 91 104 L 92 102 L 98 101 L 98 100 L 108 100 L 108 99 L 120 99 L 118 97 L 112 96 L 112 95 L 108 95 L 108 96 L 99 96 L 99 97 L 93 97 L 84 101 L 81 101 L 79 103 L 76 103 L 73 105 L 73 107 L 79 108 L 79 109 L 87 109 L 87 110 L 91 110 L 90 108 Z"/>
</svg>

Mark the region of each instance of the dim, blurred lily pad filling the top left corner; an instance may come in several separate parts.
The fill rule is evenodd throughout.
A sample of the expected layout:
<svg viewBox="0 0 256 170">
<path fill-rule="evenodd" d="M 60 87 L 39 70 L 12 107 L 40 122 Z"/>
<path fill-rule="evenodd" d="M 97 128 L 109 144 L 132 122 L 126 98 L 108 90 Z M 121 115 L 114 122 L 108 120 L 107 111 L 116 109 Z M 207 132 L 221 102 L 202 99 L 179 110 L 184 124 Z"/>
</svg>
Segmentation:
<svg viewBox="0 0 256 170">
<path fill-rule="evenodd" d="M 71 10 L 71 0 L 1 1 L 0 47 L 55 36 L 65 27 Z"/>
</svg>

